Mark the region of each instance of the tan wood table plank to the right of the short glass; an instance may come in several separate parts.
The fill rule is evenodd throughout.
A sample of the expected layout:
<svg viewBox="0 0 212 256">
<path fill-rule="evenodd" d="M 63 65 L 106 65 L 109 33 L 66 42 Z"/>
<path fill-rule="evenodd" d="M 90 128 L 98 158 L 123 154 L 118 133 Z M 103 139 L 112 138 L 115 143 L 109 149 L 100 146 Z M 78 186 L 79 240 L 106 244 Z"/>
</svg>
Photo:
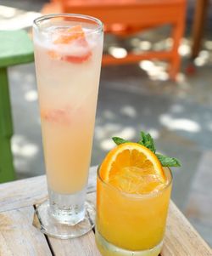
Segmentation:
<svg viewBox="0 0 212 256">
<path fill-rule="evenodd" d="M 198 235 L 173 202 L 167 219 L 162 256 L 212 256 L 212 250 Z"/>
</svg>

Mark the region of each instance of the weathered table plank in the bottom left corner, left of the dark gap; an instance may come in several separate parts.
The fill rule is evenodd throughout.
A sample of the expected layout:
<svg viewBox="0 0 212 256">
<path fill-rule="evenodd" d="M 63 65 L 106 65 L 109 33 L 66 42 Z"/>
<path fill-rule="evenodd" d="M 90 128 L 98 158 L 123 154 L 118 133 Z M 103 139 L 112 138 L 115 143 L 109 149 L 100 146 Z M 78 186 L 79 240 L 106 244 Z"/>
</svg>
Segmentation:
<svg viewBox="0 0 212 256">
<path fill-rule="evenodd" d="M 0 213 L 0 255 L 52 255 L 45 236 L 31 225 L 34 208 Z"/>
</svg>

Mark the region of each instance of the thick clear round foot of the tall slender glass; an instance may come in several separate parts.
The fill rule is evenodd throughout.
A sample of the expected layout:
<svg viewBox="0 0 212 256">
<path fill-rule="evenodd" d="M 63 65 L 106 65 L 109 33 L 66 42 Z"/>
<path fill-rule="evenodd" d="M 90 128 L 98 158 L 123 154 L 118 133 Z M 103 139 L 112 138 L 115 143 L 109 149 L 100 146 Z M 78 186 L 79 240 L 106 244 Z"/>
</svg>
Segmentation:
<svg viewBox="0 0 212 256">
<path fill-rule="evenodd" d="M 48 200 L 36 208 L 35 215 L 39 223 L 39 225 L 37 225 L 36 221 L 36 227 L 39 228 L 42 233 L 47 236 L 68 239 L 85 235 L 88 231 L 92 230 L 95 221 L 95 208 L 90 202 L 86 202 L 84 218 L 75 225 L 67 221 L 59 221 L 56 216 L 53 216 Z"/>
</svg>

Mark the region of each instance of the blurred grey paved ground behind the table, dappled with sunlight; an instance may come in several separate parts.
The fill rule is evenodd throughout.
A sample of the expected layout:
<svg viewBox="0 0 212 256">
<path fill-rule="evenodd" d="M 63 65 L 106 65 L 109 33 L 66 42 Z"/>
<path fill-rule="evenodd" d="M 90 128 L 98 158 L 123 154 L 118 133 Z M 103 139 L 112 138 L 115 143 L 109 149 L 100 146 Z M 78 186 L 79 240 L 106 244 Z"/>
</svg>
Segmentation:
<svg viewBox="0 0 212 256">
<path fill-rule="evenodd" d="M 38 11 L 42 2 L 0 1 L 0 4 L 18 8 L 0 12 L 4 22 L 0 28 L 6 28 L 14 18 L 20 18 L 21 26 L 31 24 L 37 13 L 29 14 L 29 11 Z M 188 24 L 189 19 L 190 12 Z M 127 43 L 107 37 L 106 45 L 112 43 L 111 53 L 120 47 L 122 51 L 129 47 L 169 48 L 169 31 L 166 27 L 148 32 Z M 165 64 L 159 62 L 142 61 L 140 65 L 103 68 L 92 164 L 101 162 L 113 146 L 111 136 L 136 139 L 141 129 L 149 131 L 159 151 L 181 159 L 182 167 L 173 169 L 173 200 L 212 245 L 212 35 L 209 35 L 209 27 L 205 31 L 204 49 L 195 60 L 196 72 L 190 76 L 185 72 L 189 65 L 188 37 L 183 40 L 180 52 L 183 62 L 177 82 L 167 80 Z M 12 145 L 18 177 L 43 174 L 34 65 L 10 68 L 9 82 L 15 131 Z"/>
</svg>

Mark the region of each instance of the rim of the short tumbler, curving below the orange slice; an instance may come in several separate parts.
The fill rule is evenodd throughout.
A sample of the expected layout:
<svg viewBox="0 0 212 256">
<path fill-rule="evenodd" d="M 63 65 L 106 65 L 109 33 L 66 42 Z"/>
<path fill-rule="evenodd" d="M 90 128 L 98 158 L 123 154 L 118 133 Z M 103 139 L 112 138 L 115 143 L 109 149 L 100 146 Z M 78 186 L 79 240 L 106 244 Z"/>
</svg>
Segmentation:
<svg viewBox="0 0 212 256">
<path fill-rule="evenodd" d="M 163 193 L 163 191 L 166 191 L 170 185 L 172 184 L 172 180 L 173 180 L 173 175 L 172 175 L 172 172 L 171 172 L 171 169 L 169 167 L 163 167 L 165 169 L 167 169 L 169 171 L 169 174 L 170 174 L 170 180 L 169 182 L 165 185 L 165 187 L 163 187 L 161 190 L 159 191 L 152 191 L 152 192 L 149 192 L 149 193 L 146 193 L 146 194 L 131 194 L 131 193 L 127 193 L 127 192 L 124 192 L 124 191 L 120 191 L 118 188 L 116 188 L 115 186 L 113 185 L 110 185 L 109 183 L 105 182 L 102 177 L 100 176 L 100 167 L 101 165 L 98 165 L 98 179 L 101 181 L 101 183 L 103 183 L 103 185 L 109 187 L 109 189 L 111 190 L 114 190 L 118 193 L 120 193 L 121 195 L 123 196 L 126 196 L 126 197 L 129 197 L 131 199 L 144 199 L 144 198 L 149 198 L 149 197 L 155 197 L 155 196 L 158 196 L 159 194 Z"/>
</svg>

